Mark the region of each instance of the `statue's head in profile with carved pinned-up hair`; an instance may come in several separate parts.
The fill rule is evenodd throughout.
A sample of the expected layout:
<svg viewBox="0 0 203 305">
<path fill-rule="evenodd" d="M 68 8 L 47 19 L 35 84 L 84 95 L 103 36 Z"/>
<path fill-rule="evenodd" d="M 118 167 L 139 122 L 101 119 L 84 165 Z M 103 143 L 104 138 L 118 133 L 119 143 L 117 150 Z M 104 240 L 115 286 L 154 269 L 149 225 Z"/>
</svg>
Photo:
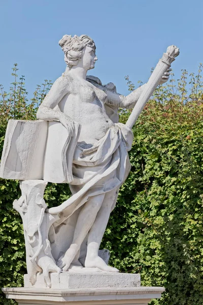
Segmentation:
<svg viewBox="0 0 203 305">
<path fill-rule="evenodd" d="M 71 69 L 80 62 L 86 70 L 94 68 L 97 57 L 95 55 L 94 41 L 87 35 L 71 36 L 64 35 L 59 40 L 59 45 L 64 52 L 64 60 L 67 67 Z"/>
</svg>

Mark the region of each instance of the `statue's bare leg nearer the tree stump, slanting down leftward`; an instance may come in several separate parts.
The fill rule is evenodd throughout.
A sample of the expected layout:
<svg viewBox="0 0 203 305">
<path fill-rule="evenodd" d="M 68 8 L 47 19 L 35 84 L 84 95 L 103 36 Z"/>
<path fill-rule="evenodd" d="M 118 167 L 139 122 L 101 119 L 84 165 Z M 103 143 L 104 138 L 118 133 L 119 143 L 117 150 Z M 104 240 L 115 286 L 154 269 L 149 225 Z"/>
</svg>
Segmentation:
<svg viewBox="0 0 203 305">
<path fill-rule="evenodd" d="M 72 261 L 80 250 L 81 243 L 93 225 L 104 197 L 105 194 L 90 197 L 81 209 L 76 223 L 73 242 L 70 248 L 65 252 L 65 255 L 58 259 L 57 265 L 62 268 L 63 271 L 66 271 L 70 267 Z"/>
</svg>

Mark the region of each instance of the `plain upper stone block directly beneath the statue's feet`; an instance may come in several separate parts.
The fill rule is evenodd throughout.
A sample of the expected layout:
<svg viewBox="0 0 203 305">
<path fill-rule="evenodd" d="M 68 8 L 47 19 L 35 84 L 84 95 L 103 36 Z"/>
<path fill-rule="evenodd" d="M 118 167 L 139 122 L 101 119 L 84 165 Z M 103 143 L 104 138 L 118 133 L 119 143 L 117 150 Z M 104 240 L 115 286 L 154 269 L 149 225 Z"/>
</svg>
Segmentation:
<svg viewBox="0 0 203 305">
<path fill-rule="evenodd" d="M 83 268 L 82 270 L 90 269 Z M 91 270 L 91 269 L 90 269 Z M 86 271 L 86 270 L 85 270 Z M 84 272 L 84 271 L 83 271 Z M 139 287 L 139 273 L 117 273 L 117 272 L 84 272 L 50 273 L 52 289 L 95 289 L 95 288 L 133 288 Z M 31 286 L 28 275 L 24 276 L 25 288 L 46 288 L 42 273 L 37 275 L 36 284 Z"/>
</svg>

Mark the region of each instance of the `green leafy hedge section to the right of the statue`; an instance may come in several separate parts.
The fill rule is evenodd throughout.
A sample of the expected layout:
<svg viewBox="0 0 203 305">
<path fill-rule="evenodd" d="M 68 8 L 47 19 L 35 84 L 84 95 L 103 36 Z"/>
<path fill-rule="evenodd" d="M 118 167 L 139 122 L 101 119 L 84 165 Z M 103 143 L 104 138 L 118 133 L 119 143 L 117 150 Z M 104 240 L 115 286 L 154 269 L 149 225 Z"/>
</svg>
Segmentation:
<svg viewBox="0 0 203 305">
<path fill-rule="evenodd" d="M 200 72 L 201 65 L 189 93 L 185 70 L 177 85 L 172 79 L 157 88 L 142 112 L 133 128 L 131 172 L 103 241 L 116 267 L 140 272 L 142 285 L 166 288 L 152 304 L 203 304 Z"/>
</svg>

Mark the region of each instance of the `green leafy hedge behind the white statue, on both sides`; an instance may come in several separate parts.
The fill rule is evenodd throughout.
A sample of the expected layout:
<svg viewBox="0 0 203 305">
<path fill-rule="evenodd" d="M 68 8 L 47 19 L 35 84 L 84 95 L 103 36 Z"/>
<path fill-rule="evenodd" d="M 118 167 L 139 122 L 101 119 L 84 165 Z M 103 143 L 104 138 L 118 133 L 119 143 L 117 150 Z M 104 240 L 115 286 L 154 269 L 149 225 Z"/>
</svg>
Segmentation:
<svg viewBox="0 0 203 305">
<path fill-rule="evenodd" d="M 140 272 L 142 285 L 164 286 L 159 305 L 203 304 L 203 91 L 201 64 L 196 76 L 159 86 L 133 128 L 131 172 L 121 187 L 101 248 L 111 251 L 110 264 Z M 10 93 L 2 87 L 0 150 L 9 118 L 35 119 L 50 81 L 27 100 L 17 65 Z M 129 89 L 133 84 L 126 78 Z M 189 89 L 188 89 L 189 88 Z M 189 90 L 189 92 L 187 91 Z M 120 111 L 125 123 L 130 111 Z M 20 196 L 18 181 L 0 179 L 0 281 L 23 285 L 25 248 L 21 219 L 12 208 Z M 70 196 L 67 185 L 48 184 L 49 206 Z M 0 304 L 11 304 L 4 296 Z"/>
</svg>

